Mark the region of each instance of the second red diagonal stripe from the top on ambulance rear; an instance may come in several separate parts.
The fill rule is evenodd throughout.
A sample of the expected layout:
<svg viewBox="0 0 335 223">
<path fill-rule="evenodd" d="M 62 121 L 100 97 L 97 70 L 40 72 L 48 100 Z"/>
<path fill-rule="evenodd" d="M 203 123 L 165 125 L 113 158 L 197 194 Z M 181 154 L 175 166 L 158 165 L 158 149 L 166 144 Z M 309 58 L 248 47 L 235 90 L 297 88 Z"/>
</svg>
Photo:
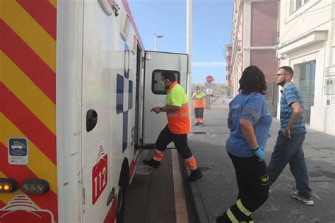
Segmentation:
<svg viewBox="0 0 335 223">
<path fill-rule="evenodd" d="M 0 33 L 3 33 L 0 35 L 0 49 L 40 90 L 45 92 L 52 102 L 56 103 L 56 74 L 54 71 L 2 19 L 0 19 Z"/>
</svg>

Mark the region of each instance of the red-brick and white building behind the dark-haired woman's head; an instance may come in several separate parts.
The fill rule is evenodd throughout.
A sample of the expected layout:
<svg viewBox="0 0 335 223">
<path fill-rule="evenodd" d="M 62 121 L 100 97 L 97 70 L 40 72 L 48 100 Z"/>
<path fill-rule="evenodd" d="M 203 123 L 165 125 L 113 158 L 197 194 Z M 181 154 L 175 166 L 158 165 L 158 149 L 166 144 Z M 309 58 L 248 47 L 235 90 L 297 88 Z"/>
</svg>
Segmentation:
<svg viewBox="0 0 335 223">
<path fill-rule="evenodd" d="M 232 85 L 232 96 L 237 95 L 238 81 L 247 66 L 261 68 L 266 76 L 266 99 L 272 114 L 277 111 L 278 88 L 274 74 L 278 69 L 276 44 L 278 42 L 277 0 L 235 0 L 233 8 L 231 43 L 226 45 L 227 78 Z M 230 52 L 231 50 L 231 52 Z"/>
</svg>

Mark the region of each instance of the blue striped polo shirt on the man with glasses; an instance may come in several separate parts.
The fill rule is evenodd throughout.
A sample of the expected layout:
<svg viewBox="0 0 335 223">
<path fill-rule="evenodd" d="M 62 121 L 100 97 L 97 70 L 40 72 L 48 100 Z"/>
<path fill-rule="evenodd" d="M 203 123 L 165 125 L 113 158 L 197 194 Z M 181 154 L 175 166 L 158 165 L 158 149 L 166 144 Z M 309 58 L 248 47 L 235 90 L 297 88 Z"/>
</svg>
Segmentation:
<svg viewBox="0 0 335 223">
<path fill-rule="evenodd" d="M 293 82 L 286 83 L 281 90 L 281 132 L 284 131 L 288 121 L 290 121 L 290 118 L 292 117 L 293 108 L 291 107 L 291 104 L 293 102 L 299 102 L 300 107 L 302 108 L 302 114 L 300 114 L 299 119 L 290 129 L 290 133 L 306 133 L 305 112 L 303 111 L 304 104 L 302 102 L 302 96 Z"/>
</svg>

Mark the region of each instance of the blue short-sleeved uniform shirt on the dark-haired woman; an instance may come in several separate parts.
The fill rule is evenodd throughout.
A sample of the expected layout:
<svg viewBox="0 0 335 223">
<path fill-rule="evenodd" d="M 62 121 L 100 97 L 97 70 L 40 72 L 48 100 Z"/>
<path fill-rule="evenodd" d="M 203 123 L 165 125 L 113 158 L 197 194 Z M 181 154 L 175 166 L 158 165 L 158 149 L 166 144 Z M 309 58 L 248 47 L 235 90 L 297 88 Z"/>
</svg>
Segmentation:
<svg viewBox="0 0 335 223">
<path fill-rule="evenodd" d="M 249 95 L 240 93 L 229 103 L 228 124 L 233 127 L 225 147 L 236 157 L 253 157 L 254 148 L 249 146 L 242 133 L 240 119 L 247 119 L 252 123 L 259 148 L 265 150 L 272 116 L 266 107 L 264 96 L 256 92 Z"/>
</svg>

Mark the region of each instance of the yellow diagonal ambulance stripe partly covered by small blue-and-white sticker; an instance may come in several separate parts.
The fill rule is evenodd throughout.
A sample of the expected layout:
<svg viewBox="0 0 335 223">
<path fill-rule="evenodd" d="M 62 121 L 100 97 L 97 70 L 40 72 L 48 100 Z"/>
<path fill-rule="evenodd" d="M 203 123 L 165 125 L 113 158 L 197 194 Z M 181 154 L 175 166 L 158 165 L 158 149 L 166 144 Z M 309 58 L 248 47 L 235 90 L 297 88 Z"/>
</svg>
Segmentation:
<svg viewBox="0 0 335 223">
<path fill-rule="evenodd" d="M 3 130 L 0 134 L 0 142 L 4 145 L 7 145 L 8 138 L 13 136 L 28 138 L 2 113 L 0 113 L 0 123 L 0 129 Z M 57 167 L 33 142 L 28 142 L 28 169 L 33 171 L 39 179 L 48 181 L 50 189 L 57 194 Z"/>
</svg>

